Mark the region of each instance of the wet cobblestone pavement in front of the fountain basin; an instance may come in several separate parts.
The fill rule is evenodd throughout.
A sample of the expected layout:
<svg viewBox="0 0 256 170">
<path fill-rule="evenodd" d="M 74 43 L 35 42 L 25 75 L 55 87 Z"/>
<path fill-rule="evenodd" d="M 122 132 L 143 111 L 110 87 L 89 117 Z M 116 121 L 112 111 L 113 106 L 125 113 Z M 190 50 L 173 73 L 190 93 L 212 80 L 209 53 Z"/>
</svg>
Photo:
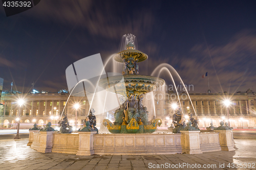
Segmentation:
<svg viewBox="0 0 256 170">
<path fill-rule="evenodd" d="M 235 139 L 236 151 L 198 155 L 92 155 L 38 153 L 27 147 L 28 140 L 0 140 L 0 169 L 256 169 L 256 140 Z M 179 165 L 190 164 L 182 167 Z M 228 164 L 230 163 L 230 168 Z M 233 164 L 232 164 L 233 163 Z M 234 163 L 243 163 L 236 168 Z M 247 163 L 247 166 L 245 166 Z M 162 165 L 162 168 L 157 168 Z M 214 165 L 216 164 L 216 167 Z M 220 168 L 225 165 L 225 168 Z M 176 168 L 175 168 L 176 165 Z M 196 168 L 192 168 L 194 167 Z M 199 165 L 201 168 L 199 168 Z M 204 168 L 203 166 L 206 165 Z M 234 166 L 232 168 L 232 165 Z M 207 166 L 211 166 L 207 168 Z M 242 164 L 240 165 L 240 167 Z M 247 168 L 246 168 L 247 167 Z"/>
</svg>

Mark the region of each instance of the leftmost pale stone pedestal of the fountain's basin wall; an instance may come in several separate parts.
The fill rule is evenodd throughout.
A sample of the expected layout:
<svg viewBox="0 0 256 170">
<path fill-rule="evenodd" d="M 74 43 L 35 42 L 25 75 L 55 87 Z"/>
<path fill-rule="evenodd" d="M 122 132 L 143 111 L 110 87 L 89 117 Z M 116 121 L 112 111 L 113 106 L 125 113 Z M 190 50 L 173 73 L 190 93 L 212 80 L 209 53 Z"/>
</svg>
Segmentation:
<svg viewBox="0 0 256 170">
<path fill-rule="evenodd" d="M 53 134 L 57 132 L 50 131 L 50 132 L 39 132 L 39 133 L 40 133 L 40 147 L 37 150 L 37 152 L 41 152 L 41 153 L 52 152 Z"/>
</svg>

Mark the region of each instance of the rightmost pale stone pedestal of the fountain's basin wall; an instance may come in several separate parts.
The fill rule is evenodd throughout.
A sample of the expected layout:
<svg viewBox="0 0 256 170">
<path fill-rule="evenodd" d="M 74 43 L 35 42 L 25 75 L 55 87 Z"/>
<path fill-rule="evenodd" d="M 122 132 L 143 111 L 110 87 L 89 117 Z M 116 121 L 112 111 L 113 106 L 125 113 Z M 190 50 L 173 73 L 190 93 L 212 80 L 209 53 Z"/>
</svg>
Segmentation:
<svg viewBox="0 0 256 170">
<path fill-rule="evenodd" d="M 234 151 L 234 143 L 231 130 L 215 130 L 219 133 L 220 145 L 222 151 Z"/>
</svg>

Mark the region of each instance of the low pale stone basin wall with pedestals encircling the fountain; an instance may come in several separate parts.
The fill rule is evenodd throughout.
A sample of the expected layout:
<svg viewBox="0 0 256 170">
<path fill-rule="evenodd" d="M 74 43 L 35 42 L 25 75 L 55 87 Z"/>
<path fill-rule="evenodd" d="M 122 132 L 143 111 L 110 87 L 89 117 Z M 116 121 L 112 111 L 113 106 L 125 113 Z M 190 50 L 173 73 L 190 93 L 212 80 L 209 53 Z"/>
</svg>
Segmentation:
<svg viewBox="0 0 256 170">
<path fill-rule="evenodd" d="M 30 133 L 31 135 L 32 133 Z M 95 134 L 79 132 L 33 132 L 31 148 L 37 152 L 76 155 L 114 154 L 200 154 L 213 151 L 233 151 L 232 132 L 181 131 L 180 134 Z"/>
</svg>

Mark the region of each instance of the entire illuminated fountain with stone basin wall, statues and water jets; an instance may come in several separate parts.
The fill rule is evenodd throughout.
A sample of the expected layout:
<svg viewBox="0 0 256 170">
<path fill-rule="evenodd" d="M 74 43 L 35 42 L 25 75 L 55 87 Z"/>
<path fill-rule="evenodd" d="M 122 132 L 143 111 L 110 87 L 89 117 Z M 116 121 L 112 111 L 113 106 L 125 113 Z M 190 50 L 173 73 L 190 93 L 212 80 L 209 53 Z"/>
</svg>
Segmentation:
<svg viewBox="0 0 256 170">
<path fill-rule="evenodd" d="M 135 36 L 129 34 L 126 37 L 131 38 Z M 158 87 L 165 84 L 165 81 L 159 78 L 162 70 L 168 70 L 168 68 L 174 71 L 176 70 L 165 63 L 160 64 L 153 71 L 152 75 L 154 75 L 156 70 L 161 66 L 158 77 L 139 75 L 138 62 L 146 60 L 148 56 L 135 48 L 137 44 L 136 46 L 134 45 L 133 39 L 125 39 L 125 45 L 126 50 L 112 56 L 115 62 L 123 64 L 122 74 L 107 74 L 107 77 L 101 78 L 97 81 L 97 85 L 95 86 L 100 86 L 108 91 L 108 93 L 102 95 L 102 99 L 105 99 L 105 102 L 106 95 L 110 95 L 110 93 L 114 93 L 114 95 L 119 97 L 119 108 L 114 112 L 115 122 L 112 123 L 111 120 L 104 119 L 101 125 L 101 128 L 102 126 L 106 127 L 112 134 L 97 133 L 98 130 L 95 127 L 96 117 L 91 103 L 88 117 L 84 120 L 84 127 L 79 129 L 77 133 L 71 133 L 72 130 L 66 115 L 62 122 L 60 122 L 62 133 L 57 133 L 51 128 L 50 122 L 45 129 L 41 129 L 39 132 L 35 124 L 33 128 L 34 131 L 32 129 L 30 131 L 30 141 L 28 143 L 28 145 L 31 144 L 32 149 L 41 153 L 56 152 L 76 155 L 201 154 L 203 152 L 234 150 L 234 143 L 231 140 L 232 128 L 229 127 L 228 124 L 224 126 L 224 123 L 221 122 L 221 126 L 218 128 L 214 128 L 211 125 L 209 128 L 214 128 L 214 132 L 200 133 L 198 128 L 199 120 L 187 89 L 186 92 L 195 111 L 196 118 L 193 118 L 193 114 L 189 113 L 188 110 L 188 120 L 185 121 L 185 115 L 181 107 L 172 117 L 173 125 L 169 130 L 172 130 L 173 133 L 152 134 L 156 131 L 157 126 L 161 126 L 162 120 L 156 118 L 156 114 L 154 114 L 154 118 L 148 121 L 149 112 L 147 108 L 143 106 L 144 94 L 153 92 Z M 109 58 L 108 61 L 110 61 L 112 57 Z M 170 71 L 169 75 L 175 85 Z M 88 80 L 80 80 L 74 88 L 82 81 Z M 181 82 L 183 86 L 185 86 L 182 80 Z M 74 88 L 70 91 L 70 95 Z M 95 92 L 96 88 L 92 96 L 92 102 Z M 177 88 L 176 92 L 179 99 Z M 113 101 L 111 101 L 111 103 L 112 102 Z M 97 104 L 100 105 L 98 102 Z M 102 105 L 103 112 L 108 105 L 109 104 L 105 105 L 105 103 Z M 116 108 L 116 106 L 118 105 L 115 105 L 113 108 Z"/>
</svg>

